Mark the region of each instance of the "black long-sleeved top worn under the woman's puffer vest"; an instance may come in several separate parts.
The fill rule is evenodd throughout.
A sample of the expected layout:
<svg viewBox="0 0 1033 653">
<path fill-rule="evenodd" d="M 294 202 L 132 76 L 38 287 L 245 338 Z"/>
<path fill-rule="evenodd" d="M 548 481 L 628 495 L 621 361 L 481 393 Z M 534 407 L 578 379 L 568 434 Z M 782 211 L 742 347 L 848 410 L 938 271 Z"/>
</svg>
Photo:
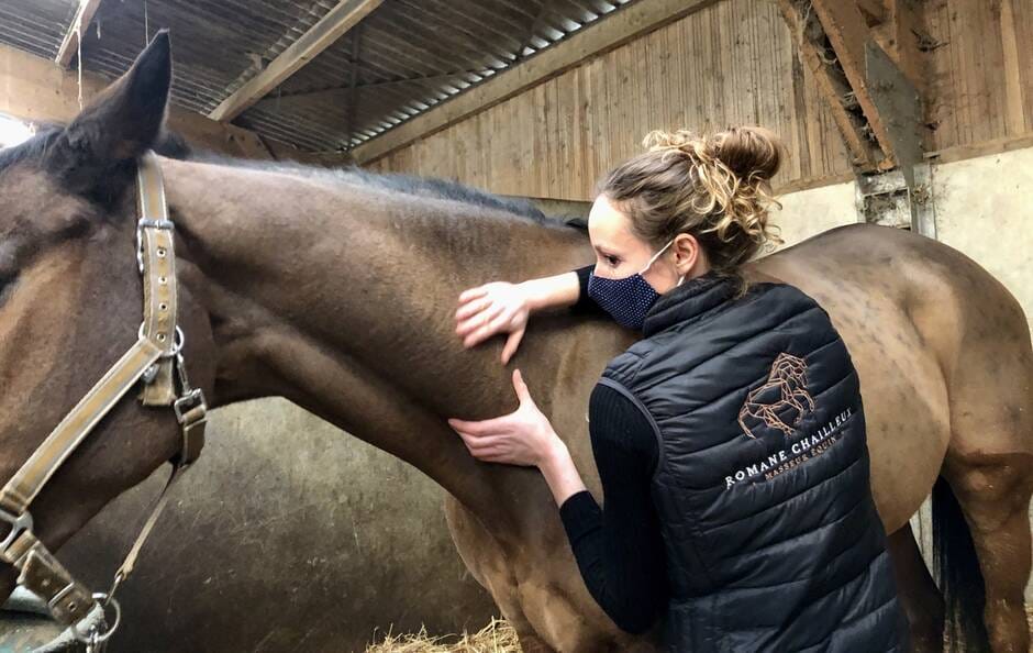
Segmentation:
<svg viewBox="0 0 1033 653">
<path fill-rule="evenodd" d="M 591 269 L 577 270 L 578 312 L 601 311 L 587 292 Z M 658 445 L 647 418 L 612 388 L 596 386 L 588 413 L 603 506 L 585 490 L 564 501 L 559 516 L 589 593 L 621 629 L 644 632 L 667 604 L 664 544 L 649 490 Z"/>
</svg>

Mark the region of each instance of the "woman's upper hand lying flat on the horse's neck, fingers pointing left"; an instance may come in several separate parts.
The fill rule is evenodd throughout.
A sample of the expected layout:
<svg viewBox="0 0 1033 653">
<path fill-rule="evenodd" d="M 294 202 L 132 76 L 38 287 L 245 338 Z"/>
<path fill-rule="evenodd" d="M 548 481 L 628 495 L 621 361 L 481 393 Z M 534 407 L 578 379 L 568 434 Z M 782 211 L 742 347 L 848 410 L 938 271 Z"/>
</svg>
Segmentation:
<svg viewBox="0 0 1033 653">
<path fill-rule="evenodd" d="M 469 348 L 497 333 L 509 333 L 502 364 L 509 363 L 527 330 L 531 296 L 525 286 L 496 281 L 470 288 L 459 296 L 456 333 Z"/>
</svg>

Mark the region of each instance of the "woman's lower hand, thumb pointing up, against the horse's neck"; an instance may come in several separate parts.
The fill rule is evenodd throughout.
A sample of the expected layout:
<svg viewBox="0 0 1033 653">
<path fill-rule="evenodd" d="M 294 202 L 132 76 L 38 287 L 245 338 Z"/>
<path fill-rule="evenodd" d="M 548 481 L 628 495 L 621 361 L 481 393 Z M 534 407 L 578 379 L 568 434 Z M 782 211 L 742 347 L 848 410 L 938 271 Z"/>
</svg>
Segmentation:
<svg viewBox="0 0 1033 653">
<path fill-rule="evenodd" d="M 515 412 L 479 422 L 451 419 L 448 425 L 478 460 L 537 467 L 557 445 L 563 445 L 563 441 L 553 431 L 548 418 L 534 405 L 519 369 L 513 372 L 513 388 L 520 399 Z"/>
</svg>

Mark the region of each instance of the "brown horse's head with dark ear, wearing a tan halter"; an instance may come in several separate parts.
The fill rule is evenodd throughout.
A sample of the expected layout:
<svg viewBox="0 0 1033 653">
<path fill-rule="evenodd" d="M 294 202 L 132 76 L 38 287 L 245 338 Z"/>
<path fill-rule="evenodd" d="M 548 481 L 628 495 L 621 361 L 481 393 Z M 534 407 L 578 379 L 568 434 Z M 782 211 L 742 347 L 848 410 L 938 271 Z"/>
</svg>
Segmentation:
<svg viewBox="0 0 1033 653">
<path fill-rule="evenodd" d="M 163 137 L 170 80 L 168 35 L 159 33 L 133 67 L 67 126 L 44 130 L 0 152 L 3 482 L 38 465 L 30 461 L 47 450 L 41 445 L 51 442 L 48 434 L 75 421 L 74 408 L 97 400 L 93 391 L 105 375 L 123 369 L 119 365 L 127 352 L 146 348 L 136 347 L 146 340 L 143 281 L 134 254 L 141 252 L 137 162 Z M 171 250 L 169 244 L 154 251 L 165 258 Z M 171 275 L 156 277 L 163 286 L 175 286 L 171 269 Z M 169 308 L 165 300 L 155 306 Z M 207 316 L 186 288 L 178 292 L 178 320 L 176 312 L 171 326 L 178 325 L 191 339 L 186 348 L 190 376 L 210 388 L 213 369 L 207 361 L 212 336 Z M 155 335 L 152 344 L 160 341 L 178 347 L 181 337 L 175 329 L 167 331 Z M 170 358 L 158 348 L 151 347 L 145 355 Z M 171 369 L 171 364 L 147 363 L 143 376 L 159 367 Z M 24 530 L 43 560 L 44 552 L 56 550 L 105 503 L 180 451 L 180 429 L 170 402 L 167 410 L 142 406 L 136 400 L 142 386 L 135 380 L 124 384 L 123 394 L 97 416 L 93 428 L 68 427 L 84 433 L 81 444 L 67 449 L 67 457 L 56 456 L 55 465 L 43 465 L 53 471 L 37 474 L 45 476 L 43 483 L 27 484 L 33 490 L 15 501 L 18 508 L 4 503 L 8 549 L 15 547 L 21 540 L 14 536 Z M 30 512 L 31 519 L 25 518 Z M 21 518 L 20 523 L 14 517 Z M 29 553 L 19 555 L 16 563 L 13 554 L 4 562 L 15 563 L 24 577 Z M 10 564 L 2 583 L 7 596 L 14 584 Z"/>
</svg>

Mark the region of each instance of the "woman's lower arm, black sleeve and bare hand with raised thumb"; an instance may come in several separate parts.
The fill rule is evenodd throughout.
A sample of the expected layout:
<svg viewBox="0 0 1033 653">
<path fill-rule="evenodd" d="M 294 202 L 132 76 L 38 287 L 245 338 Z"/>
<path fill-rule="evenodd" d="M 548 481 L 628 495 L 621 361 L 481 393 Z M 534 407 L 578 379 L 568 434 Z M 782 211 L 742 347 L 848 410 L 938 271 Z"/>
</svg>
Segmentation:
<svg viewBox="0 0 1033 653">
<path fill-rule="evenodd" d="M 667 598 L 663 541 L 649 494 L 658 449 L 647 418 L 615 390 L 597 386 L 592 391 L 592 451 L 606 498 L 600 510 L 519 370 L 513 387 L 520 399 L 515 412 L 448 423 L 478 460 L 542 471 L 592 597 L 619 627 L 645 632 Z"/>
</svg>

